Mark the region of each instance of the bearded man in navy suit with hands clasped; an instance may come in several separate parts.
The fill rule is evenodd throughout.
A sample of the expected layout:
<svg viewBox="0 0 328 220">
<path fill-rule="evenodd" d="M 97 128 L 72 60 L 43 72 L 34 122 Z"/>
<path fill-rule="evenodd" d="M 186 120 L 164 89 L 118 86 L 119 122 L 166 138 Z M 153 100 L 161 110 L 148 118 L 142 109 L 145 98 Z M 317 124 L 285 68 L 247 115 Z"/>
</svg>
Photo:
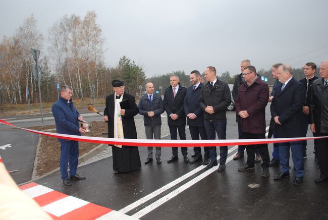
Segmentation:
<svg viewBox="0 0 328 220">
<path fill-rule="evenodd" d="M 190 73 L 191 86 L 187 89 L 186 97 L 184 100 L 185 114 L 187 116 L 187 124 L 189 126 L 190 136 L 193 140 L 199 140 L 199 135 L 202 140 L 207 139 L 205 127 L 204 127 L 204 117 L 203 110 L 198 104 L 198 98 L 203 86 L 200 82 L 200 73 L 197 70 L 191 71 Z M 201 149 L 200 147 L 194 147 L 194 158 L 190 163 L 195 163 L 202 161 Z M 204 162 L 203 165 L 209 163 L 209 150 L 208 147 L 204 147 Z"/>
</svg>

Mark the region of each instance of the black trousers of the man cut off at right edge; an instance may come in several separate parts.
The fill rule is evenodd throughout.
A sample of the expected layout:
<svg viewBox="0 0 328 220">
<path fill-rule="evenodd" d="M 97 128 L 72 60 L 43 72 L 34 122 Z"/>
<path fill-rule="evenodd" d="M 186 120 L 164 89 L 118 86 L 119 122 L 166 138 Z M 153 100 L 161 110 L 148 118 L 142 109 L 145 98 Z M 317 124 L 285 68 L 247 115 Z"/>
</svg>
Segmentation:
<svg viewBox="0 0 328 220">
<path fill-rule="evenodd" d="M 328 136 L 328 133 L 316 131 L 315 136 Z M 328 177 L 328 138 L 316 139 L 316 158 L 319 162 L 320 177 Z"/>
</svg>

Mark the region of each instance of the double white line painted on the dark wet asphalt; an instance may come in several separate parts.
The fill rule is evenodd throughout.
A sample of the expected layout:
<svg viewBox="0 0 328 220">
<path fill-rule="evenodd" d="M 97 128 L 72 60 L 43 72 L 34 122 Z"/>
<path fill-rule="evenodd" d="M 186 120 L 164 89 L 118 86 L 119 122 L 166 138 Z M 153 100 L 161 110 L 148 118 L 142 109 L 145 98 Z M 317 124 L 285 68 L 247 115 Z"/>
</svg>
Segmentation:
<svg viewBox="0 0 328 220">
<path fill-rule="evenodd" d="M 268 130 L 268 128 L 269 128 L 269 126 L 266 127 L 265 130 Z M 237 149 L 237 148 L 238 148 L 238 145 L 233 146 L 232 148 L 230 148 L 230 149 L 228 150 L 228 154 L 231 153 L 232 151 L 234 151 L 234 150 Z M 234 157 L 234 155 L 231 155 L 230 157 L 228 157 L 227 162 L 229 162 L 233 157 Z M 217 156 L 216 159 L 220 159 L 220 156 Z M 128 205 L 128 206 L 122 208 L 122 209 L 119 210 L 119 211 L 120 211 L 120 212 L 123 212 L 123 213 L 127 213 L 128 211 L 131 211 L 132 209 L 134 209 L 134 208 L 136 208 L 136 207 L 142 205 L 143 203 L 145 203 L 145 202 L 147 202 L 148 200 L 154 198 L 155 196 L 161 194 L 162 192 L 165 192 L 166 190 L 172 188 L 173 186 L 175 186 L 175 185 L 181 183 L 181 182 L 184 181 L 185 179 L 191 177 L 192 175 L 196 174 L 197 172 L 199 172 L 200 170 L 202 170 L 202 169 L 204 169 L 204 168 L 205 168 L 205 166 L 202 166 L 202 165 L 199 166 L 198 168 L 196 168 L 196 169 L 190 171 L 189 173 L 187 173 L 187 174 L 183 175 L 182 177 L 180 177 L 180 178 L 174 180 L 173 182 L 171 182 L 171 183 L 169 183 L 169 184 L 167 184 L 167 185 L 165 185 L 165 186 L 163 186 L 163 187 L 161 187 L 161 188 L 155 190 L 154 192 L 152 192 L 152 193 L 146 195 L 145 197 L 143 197 L 143 198 L 141 198 L 141 199 L 135 201 L 134 203 L 132 203 L 132 204 L 130 204 L 130 205 Z M 209 169 L 208 171 L 204 172 L 203 174 L 197 176 L 197 177 L 194 178 L 193 180 L 189 181 L 188 183 L 190 183 L 190 182 L 192 182 L 192 181 L 194 181 L 194 180 L 197 180 L 196 182 L 198 182 L 198 181 L 202 180 L 203 178 L 205 178 L 206 176 L 208 176 L 209 174 L 211 174 L 212 172 L 214 172 L 216 169 L 217 169 L 216 167 L 211 168 L 211 169 Z M 205 175 L 205 174 L 206 174 L 206 175 Z M 204 175 L 205 175 L 205 176 L 204 176 Z M 202 178 L 199 179 L 199 177 L 202 177 Z M 196 182 L 195 182 L 195 183 L 196 183 Z M 188 184 L 188 183 L 186 183 L 186 184 Z M 192 185 L 195 184 L 195 183 L 192 182 Z M 186 184 L 185 184 L 185 185 L 186 185 Z M 192 185 L 190 185 L 190 186 L 192 186 Z M 183 186 L 184 186 L 184 185 L 183 185 Z M 183 186 L 181 186 L 181 187 L 183 187 Z M 188 187 L 190 187 L 190 186 L 188 186 Z M 181 187 L 179 187 L 178 189 L 180 189 Z M 187 188 L 188 188 L 188 187 L 187 187 Z M 186 189 L 187 189 L 187 188 L 186 188 Z M 176 190 L 178 190 L 178 189 L 176 189 Z M 176 190 L 174 190 L 173 192 L 175 192 Z M 185 189 L 184 189 L 184 190 L 185 190 Z M 183 191 L 183 190 L 182 190 L 182 191 Z M 182 191 L 181 191 L 181 192 L 182 192 Z M 168 195 L 172 195 L 173 192 L 169 193 Z M 180 193 L 180 192 L 179 192 L 179 193 Z M 178 195 L 179 193 L 177 193 L 176 195 Z M 163 199 L 163 198 L 167 198 L 168 195 L 162 197 L 161 199 Z M 174 196 L 176 196 L 176 195 L 174 195 Z M 174 197 L 174 196 L 173 196 L 173 197 Z M 171 197 L 171 198 L 173 198 L 173 197 Z M 170 198 L 170 199 L 171 199 L 171 198 Z M 159 199 L 159 200 L 161 200 L 161 199 Z M 157 201 L 159 201 L 159 200 L 157 200 Z M 168 200 L 169 200 L 169 199 L 168 199 Z M 162 203 L 164 203 L 164 202 L 166 202 L 166 201 L 168 201 L 168 200 L 165 200 L 165 201 L 162 201 L 162 200 L 161 200 L 161 201 L 162 201 Z M 156 201 L 156 202 L 157 202 L 157 201 Z M 155 207 L 158 207 L 158 206 L 159 206 L 160 204 L 162 204 L 162 203 L 156 203 L 155 206 L 154 206 L 154 208 L 155 208 Z M 152 204 L 154 204 L 154 203 L 152 203 Z M 151 204 L 151 205 L 152 205 L 152 204 Z M 149 206 L 151 206 L 151 205 L 149 205 Z M 146 206 L 144 209 L 141 209 L 141 210 L 138 211 L 137 213 L 139 213 L 139 212 L 141 213 L 141 211 L 146 210 L 146 208 L 149 207 L 149 206 Z M 154 208 L 153 208 L 153 209 L 154 209 Z M 153 210 L 153 209 L 151 209 L 151 210 Z M 149 211 L 151 211 L 151 210 L 149 210 Z M 149 212 L 149 211 L 148 211 L 148 212 Z M 146 213 L 148 213 L 148 212 L 146 212 Z M 139 216 L 139 215 L 136 215 L 137 213 L 135 213 L 135 214 L 132 215 L 132 216 L 139 218 L 139 217 L 142 217 L 142 216 L 144 215 L 144 214 L 143 214 L 143 215 L 140 215 L 140 216 Z M 145 214 L 146 214 L 146 213 L 145 213 Z"/>
</svg>

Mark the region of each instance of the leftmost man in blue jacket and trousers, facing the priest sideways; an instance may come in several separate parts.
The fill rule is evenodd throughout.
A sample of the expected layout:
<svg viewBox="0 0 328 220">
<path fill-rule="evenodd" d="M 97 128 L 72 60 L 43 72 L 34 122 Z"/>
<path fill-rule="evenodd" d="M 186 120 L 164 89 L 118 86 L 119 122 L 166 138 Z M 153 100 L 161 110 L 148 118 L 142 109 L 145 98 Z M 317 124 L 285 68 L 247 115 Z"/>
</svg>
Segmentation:
<svg viewBox="0 0 328 220">
<path fill-rule="evenodd" d="M 72 102 L 72 87 L 64 85 L 61 97 L 54 102 L 51 108 L 58 134 L 81 135 L 85 130 L 79 127 L 83 117 L 77 112 Z M 72 186 L 70 180 L 85 180 L 76 173 L 79 158 L 79 142 L 58 138 L 61 143 L 61 176 L 66 186 Z M 70 163 L 70 175 L 68 175 Z"/>
</svg>

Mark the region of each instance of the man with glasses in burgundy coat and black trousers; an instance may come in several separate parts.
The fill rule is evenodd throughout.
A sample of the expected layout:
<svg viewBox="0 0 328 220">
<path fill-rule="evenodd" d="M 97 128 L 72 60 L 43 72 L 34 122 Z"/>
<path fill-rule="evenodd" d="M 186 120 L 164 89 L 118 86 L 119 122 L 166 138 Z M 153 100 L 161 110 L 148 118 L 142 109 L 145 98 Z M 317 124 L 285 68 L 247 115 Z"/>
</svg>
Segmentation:
<svg viewBox="0 0 328 220">
<path fill-rule="evenodd" d="M 241 84 L 236 98 L 236 112 L 241 117 L 243 139 L 265 138 L 265 106 L 269 87 L 256 75 L 254 66 L 244 68 L 245 82 Z M 269 152 L 266 144 L 258 144 L 262 156 L 262 177 L 269 176 Z M 254 170 L 254 145 L 247 145 L 247 162 L 238 171 Z"/>
</svg>

